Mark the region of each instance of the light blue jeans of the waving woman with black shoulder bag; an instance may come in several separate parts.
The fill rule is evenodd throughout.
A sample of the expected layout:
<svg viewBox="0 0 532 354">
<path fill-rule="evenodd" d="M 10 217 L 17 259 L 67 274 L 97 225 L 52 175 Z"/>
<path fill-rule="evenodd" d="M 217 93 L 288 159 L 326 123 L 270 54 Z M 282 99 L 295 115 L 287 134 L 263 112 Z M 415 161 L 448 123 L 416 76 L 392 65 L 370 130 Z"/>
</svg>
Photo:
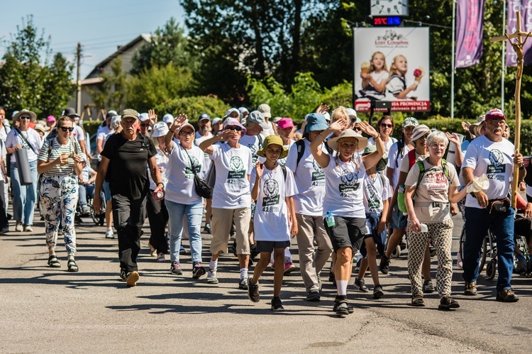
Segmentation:
<svg viewBox="0 0 532 354">
<path fill-rule="evenodd" d="M 170 216 L 170 260 L 179 262 L 179 248 L 183 232 L 183 216 L 187 216 L 189 230 L 190 253 L 192 263 L 201 262 L 201 217 L 203 216 L 203 203 L 179 204 L 165 200 L 166 209 Z"/>
</svg>

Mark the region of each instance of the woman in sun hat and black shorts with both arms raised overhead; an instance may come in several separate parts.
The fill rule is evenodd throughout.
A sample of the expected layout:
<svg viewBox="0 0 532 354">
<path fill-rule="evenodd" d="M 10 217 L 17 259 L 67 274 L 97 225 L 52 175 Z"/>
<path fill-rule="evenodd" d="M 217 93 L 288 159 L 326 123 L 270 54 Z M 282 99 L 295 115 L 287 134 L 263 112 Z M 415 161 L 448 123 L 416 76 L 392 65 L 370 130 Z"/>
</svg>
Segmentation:
<svg viewBox="0 0 532 354">
<path fill-rule="evenodd" d="M 352 129 L 344 130 L 349 124 L 348 113 L 344 107 L 336 109 L 333 116 L 338 116 L 338 119 L 318 135 L 309 148 L 326 177 L 323 216 L 326 231 L 336 253 L 335 277 L 338 293 L 333 311 L 345 316 L 353 312 L 353 307 L 347 300 L 353 255 L 360 249 L 367 234 L 362 181 L 366 168 L 377 165 L 384 154 L 384 144 L 380 141 L 379 133 L 369 124 L 362 122 L 362 131 L 375 139 L 377 150 L 363 157 L 355 154 L 364 150 L 367 138 Z M 329 148 L 337 152 L 333 157 L 324 153 L 320 145 L 335 131 L 342 133 L 329 140 Z"/>
</svg>

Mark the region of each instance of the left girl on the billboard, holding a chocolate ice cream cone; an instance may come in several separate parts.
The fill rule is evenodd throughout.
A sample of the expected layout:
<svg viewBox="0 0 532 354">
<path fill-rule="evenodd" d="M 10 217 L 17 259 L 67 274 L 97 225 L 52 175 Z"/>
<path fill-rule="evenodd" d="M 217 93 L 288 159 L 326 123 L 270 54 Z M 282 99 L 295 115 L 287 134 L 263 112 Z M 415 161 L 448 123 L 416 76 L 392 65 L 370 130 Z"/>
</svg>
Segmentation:
<svg viewBox="0 0 532 354">
<path fill-rule="evenodd" d="M 360 97 L 366 97 L 371 100 L 384 99 L 384 91 L 386 89 L 386 82 L 389 77 L 388 67 L 386 65 L 386 58 L 382 52 L 374 52 L 371 56 L 370 70 L 362 69 L 360 77 L 362 77 L 362 89 L 359 91 Z"/>
</svg>

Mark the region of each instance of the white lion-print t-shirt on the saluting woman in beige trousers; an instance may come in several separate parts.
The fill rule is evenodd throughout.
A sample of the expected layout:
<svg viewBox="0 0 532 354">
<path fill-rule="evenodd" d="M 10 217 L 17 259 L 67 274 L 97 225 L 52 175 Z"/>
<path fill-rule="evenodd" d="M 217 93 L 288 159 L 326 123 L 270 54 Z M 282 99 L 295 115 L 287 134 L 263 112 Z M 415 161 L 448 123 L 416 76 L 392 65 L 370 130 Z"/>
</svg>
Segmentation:
<svg viewBox="0 0 532 354">
<path fill-rule="evenodd" d="M 249 208 L 251 205 L 248 175 L 253 168 L 251 150 L 240 144 L 231 148 L 227 143 L 214 144 L 211 160 L 216 168 L 212 207 L 220 209 Z"/>
</svg>

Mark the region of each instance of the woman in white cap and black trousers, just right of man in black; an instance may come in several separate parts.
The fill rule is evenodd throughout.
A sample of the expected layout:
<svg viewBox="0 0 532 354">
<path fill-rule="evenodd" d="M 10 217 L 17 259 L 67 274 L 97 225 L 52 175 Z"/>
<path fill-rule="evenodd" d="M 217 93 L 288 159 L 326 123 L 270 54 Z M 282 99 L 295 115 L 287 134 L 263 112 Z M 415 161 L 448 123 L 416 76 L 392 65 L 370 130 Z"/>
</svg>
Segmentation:
<svg viewBox="0 0 532 354">
<path fill-rule="evenodd" d="M 153 145 L 155 146 L 155 161 L 161 172 L 162 184 L 166 189 L 168 182 L 168 154 L 165 148 L 165 136 L 168 133 L 168 126 L 165 122 L 155 123 L 153 126 Z M 157 200 L 153 197 L 157 185 L 150 176 L 150 191 L 146 203 L 148 211 L 148 221 L 150 221 L 150 246 L 157 253 L 157 262 L 165 262 L 165 255 L 168 253 L 168 242 L 166 239 L 166 224 L 168 223 L 168 211 L 166 209 L 165 199 Z"/>
</svg>

